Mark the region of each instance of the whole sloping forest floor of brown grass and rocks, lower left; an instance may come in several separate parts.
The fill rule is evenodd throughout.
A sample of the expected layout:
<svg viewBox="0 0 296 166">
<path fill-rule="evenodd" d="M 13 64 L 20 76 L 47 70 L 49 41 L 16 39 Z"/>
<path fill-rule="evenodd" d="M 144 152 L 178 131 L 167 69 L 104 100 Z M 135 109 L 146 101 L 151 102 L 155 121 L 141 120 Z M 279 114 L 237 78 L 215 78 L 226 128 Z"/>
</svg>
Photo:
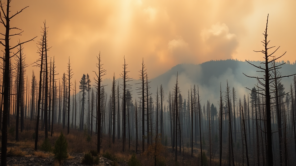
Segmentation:
<svg viewBox="0 0 296 166">
<path fill-rule="evenodd" d="M 34 151 L 35 141 L 35 121 L 25 120 L 24 129 L 19 131 L 19 141 L 15 141 L 15 122 L 12 119 L 11 125 L 8 127 L 8 144 L 7 144 L 7 165 L 9 166 L 59 166 L 59 162 L 54 158 L 52 152 L 44 152 L 41 150 Z M 41 128 L 41 127 L 39 127 Z M 67 151 L 69 157 L 63 160 L 61 165 L 63 166 L 82 166 L 82 160 L 84 155 L 91 150 L 96 151 L 97 147 L 97 135 L 95 133 L 90 136 L 88 130 L 85 127 L 84 130 L 72 129 L 70 127 L 70 134 L 67 134 L 67 128 L 62 128 L 62 125 L 54 124 L 53 134 L 49 132 L 49 141 L 51 147 L 54 147 L 60 133 L 63 133 L 67 140 Z M 41 144 L 44 142 L 44 130 L 39 130 L 38 137 L 38 149 L 41 149 Z M 151 140 L 150 140 L 151 141 Z M 157 143 L 157 151 L 155 152 L 155 138 L 153 143 L 149 146 L 145 144 L 145 151 L 141 153 L 142 144 L 138 142 L 138 151 L 136 152 L 136 141 L 131 140 L 130 147 L 128 144 L 128 138 L 126 138 L 126 152 L 122 152 L 122 139 L 115 138 L 115 143 L 112 143 L 112 136 L 102 134 L 101 152 L 99 156 L 99 166 L 127 166 L 128 161 L 132 156 L 136 157 L 141 165 L 152 166 L 155 165 L 155 157 L 157 165 L 200 165 L 200 144 L 194 144 L 193 157 L 191 157 L 191 147 L 188 143 L 184 143 L 184 150 L 179 152 L 178 147 L 178 161 L 175 162 L 175 153 L 170 145 L 164 146 Z M 190 141 L 190 140 L 188 140 Z M 184 142 L 187 142 L 184 141 Z M 170 144 L 170 143 L 167 143 Z M 186 146 L 186 147 L 185 147 Z M 207 154 L 207 149 L 203 149 L 203 152 Z M 215 154 L 215 153 L 214 153 Z M 208 160 L 208 156 L 206 157 Z M 216 157 L 215 157 L 216 158 Z M 212 157 L 211 165 L 218 165 L 217 158 Z M 205 163 L 204 163 L 205 164 Z M 208 163 L 209 165 L 209 163 Z"/>
</svg>

